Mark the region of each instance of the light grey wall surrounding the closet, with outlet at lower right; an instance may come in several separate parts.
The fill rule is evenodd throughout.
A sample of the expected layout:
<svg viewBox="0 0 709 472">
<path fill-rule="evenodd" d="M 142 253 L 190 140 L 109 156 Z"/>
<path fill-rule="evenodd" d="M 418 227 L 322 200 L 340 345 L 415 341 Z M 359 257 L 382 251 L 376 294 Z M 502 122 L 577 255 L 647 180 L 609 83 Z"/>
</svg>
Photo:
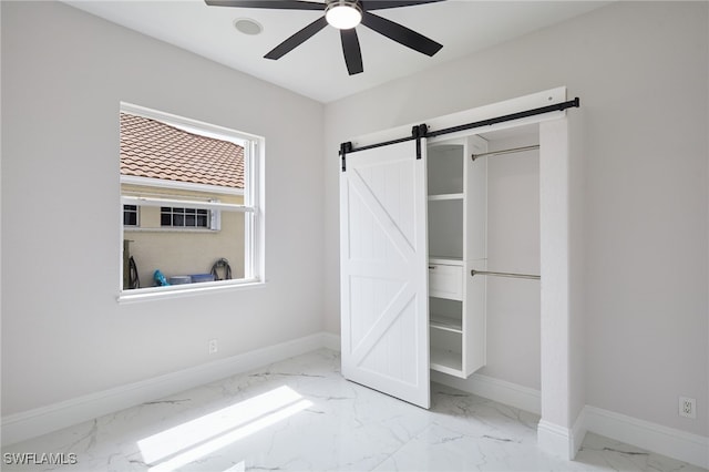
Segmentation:
<svg viewBox="0 0 709 472">
<path fill-rule="evenodd" d="M 572 372 L 569 413 L 585 398 L 709 435 L 708 19 L 706 2 L 618 2 L 328 104 L 327 329 L 340 329 L 339 143 L 567 85 L 584 131 L 571 182 L 585 189 L 571 203 L 583 218 L 571 254 L 585 260 L 572 274 L 583 318 L 569 329 L 583 338 L 571 361 L 585 372 Z M 697 399 L 697 420 L 678 417 L 679 396 Z"/>
</svg>

